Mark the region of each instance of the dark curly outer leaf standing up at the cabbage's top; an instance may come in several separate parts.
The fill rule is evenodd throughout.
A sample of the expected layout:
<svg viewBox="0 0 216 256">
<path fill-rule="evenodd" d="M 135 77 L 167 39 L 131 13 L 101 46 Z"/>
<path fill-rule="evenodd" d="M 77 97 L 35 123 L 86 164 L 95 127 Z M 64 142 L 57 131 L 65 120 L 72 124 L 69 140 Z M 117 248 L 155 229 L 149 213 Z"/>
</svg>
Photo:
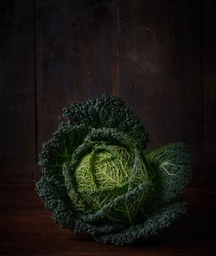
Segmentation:
<svg viewBox="0 0 216 256">
<path fill-rule="evenodd" d="M 72 125 L 87 125 L 94 128 L 116 128 L 124 131 L 144 150 L 149 134 L 132 109 L 124 105 L 117 96 L 103 95 L 82 103 L 72 103 L 63 110 Z"/>
</svg>

